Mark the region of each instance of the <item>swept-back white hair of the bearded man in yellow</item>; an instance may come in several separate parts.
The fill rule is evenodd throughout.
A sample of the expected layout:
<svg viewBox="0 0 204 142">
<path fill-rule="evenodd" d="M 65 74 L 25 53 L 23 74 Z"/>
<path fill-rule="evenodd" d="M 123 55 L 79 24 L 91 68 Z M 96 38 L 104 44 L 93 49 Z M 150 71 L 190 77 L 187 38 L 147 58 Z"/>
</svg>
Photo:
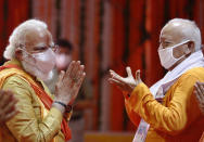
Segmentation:
<svg viewBox="0 0 204 142">
<path fill-rule="evenodd" d="M 3 52 L 3 56 L 7 60 L 11 60 L 15 57 L 15 49 L 21 44 L 26 43 L 26 35 L 29 34 L 30 30 L 35 28 L 47 29 L 47 24 L 39 20 L 28 20 L 21 25 L 18 25 L 9 38 L 9 44 Z"/>
</svg>

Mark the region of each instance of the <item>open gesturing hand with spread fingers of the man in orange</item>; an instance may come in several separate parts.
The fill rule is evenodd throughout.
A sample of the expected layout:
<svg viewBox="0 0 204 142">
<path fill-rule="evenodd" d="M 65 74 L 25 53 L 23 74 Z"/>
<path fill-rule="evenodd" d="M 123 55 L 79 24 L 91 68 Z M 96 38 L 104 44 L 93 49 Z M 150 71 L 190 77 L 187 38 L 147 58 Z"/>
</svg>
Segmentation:
<svg viewBox="0 0 204 142">
<path fill-rule="evenodd" d="M 133 78 L 131 74 L 130 67 L 126 67 L 128 77 L 124 78 L 116 74 L 114 70 L 110 70 L 111 78 L 109 81 L 111 83 L 116 85 L 122 91 L 125 91 L 127 93 L 131 93 L 132 90 L 138 86 L 138 83 L 142 82 L 140 79 L 140 70 L 136 72 L 136 79 Z"/>
</svg>

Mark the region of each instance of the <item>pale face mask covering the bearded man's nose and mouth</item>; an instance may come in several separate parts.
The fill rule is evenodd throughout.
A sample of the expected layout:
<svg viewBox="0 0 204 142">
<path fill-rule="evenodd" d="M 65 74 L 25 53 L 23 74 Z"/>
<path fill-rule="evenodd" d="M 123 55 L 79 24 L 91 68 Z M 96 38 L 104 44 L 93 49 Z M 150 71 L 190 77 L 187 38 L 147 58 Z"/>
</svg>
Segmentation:
<svg viewBox="0 0 204 142">
<path fill-rule="evenodd" d="M 24 69 L 42 80 L 49 79 L 50 72 L 55 66 L 54 52 L 51 49 L 33 54 L 27 51 L 25 52 L 26 54 L 24 54 L 24 61 L 22 61 Z M 28 54 L 30 54 L 31 57 L 29 57 Z"/>
</svg>

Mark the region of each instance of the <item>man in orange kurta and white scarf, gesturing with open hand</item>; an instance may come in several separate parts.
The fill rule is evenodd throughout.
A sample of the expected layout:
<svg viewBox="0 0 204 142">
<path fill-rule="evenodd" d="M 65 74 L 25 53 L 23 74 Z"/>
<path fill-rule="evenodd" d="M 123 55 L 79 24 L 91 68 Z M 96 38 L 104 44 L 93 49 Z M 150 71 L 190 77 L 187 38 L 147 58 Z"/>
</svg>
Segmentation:
<svg viewBox="0 0 204 142">
<path fill-rule="evenodd" d="M 200 29 L 189 20 L 169 21 L 161 31 L 157 51 L 168 73 L 151 88 L 139 70 L 136 78 L 130 67 L 126 78 L 110 70 L 110 82 L 125 92 L 126 111 L 138 127 L 133 142 L 196 142 L 204 130 L 204 116 L 193 94 L 194 83 L 204 81 Z"/>
</svg>

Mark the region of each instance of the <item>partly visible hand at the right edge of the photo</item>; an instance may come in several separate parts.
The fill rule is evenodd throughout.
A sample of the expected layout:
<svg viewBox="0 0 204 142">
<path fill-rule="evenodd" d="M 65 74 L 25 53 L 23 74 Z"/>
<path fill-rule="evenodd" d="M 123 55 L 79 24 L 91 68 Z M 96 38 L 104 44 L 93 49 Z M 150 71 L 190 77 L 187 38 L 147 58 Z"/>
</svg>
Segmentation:
<svg viewBox="0 0 204 142">
<path fill-rule="evenodd" d="M 196 96 L 201 112 L 204 114 L 204 82 L 195 82 L 194 94 Z"/>
</svg>

